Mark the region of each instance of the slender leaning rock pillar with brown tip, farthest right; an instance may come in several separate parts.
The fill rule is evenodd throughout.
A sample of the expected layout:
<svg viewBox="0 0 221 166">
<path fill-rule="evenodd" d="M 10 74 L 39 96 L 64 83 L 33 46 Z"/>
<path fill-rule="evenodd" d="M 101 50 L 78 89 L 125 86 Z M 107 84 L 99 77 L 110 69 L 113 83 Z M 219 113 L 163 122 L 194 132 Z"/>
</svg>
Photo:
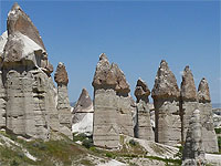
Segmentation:
<svg viewBox="0 0 221 166">
<path fill-rule="evenodd" d="M 203 77 L 198 87 L 199 110 L 202 124 L 202 142 L 207 153 L 218 153 L 218 139 L 214 132 L 212 104 L 208 81 Z"/>
</svg>

